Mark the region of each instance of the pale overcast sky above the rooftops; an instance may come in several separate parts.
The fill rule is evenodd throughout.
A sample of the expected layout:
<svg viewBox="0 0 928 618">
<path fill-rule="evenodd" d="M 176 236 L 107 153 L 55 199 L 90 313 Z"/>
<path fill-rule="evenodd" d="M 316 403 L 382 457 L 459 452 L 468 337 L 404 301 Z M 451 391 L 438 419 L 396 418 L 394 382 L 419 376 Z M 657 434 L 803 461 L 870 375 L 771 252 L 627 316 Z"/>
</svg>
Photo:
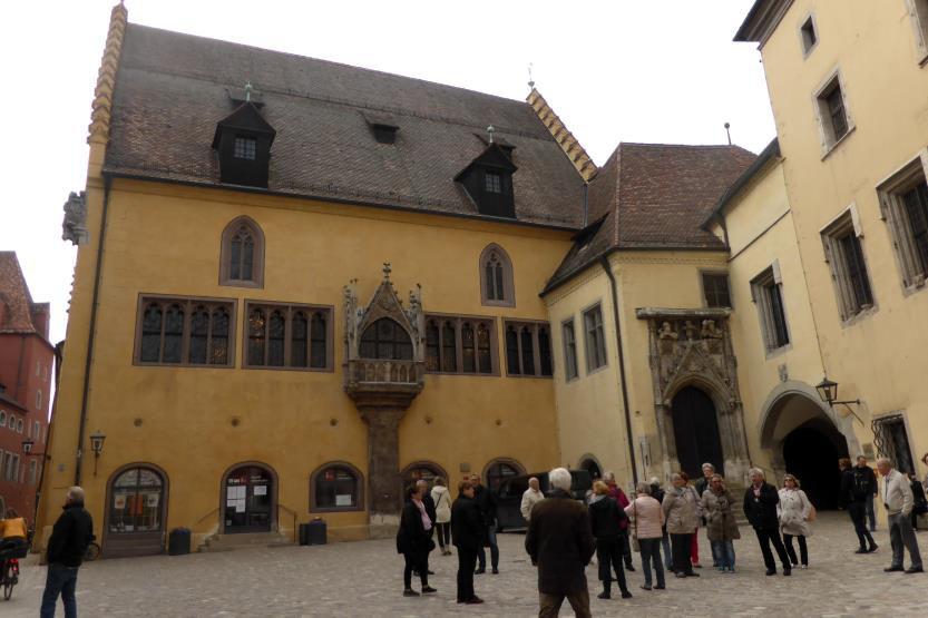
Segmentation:
<svg viewBox="0 0 928 618">
<path fill-rule="evenodd" d="M 619 141 L 774 136 L 760 55 L 732 37 L 753 0 L 468 2 L 127 0 L 129 21 L 515 99 L 536 87 L 596 164 Z M 87 171 L 90 101 L 114 0 L 0 2 L 0 249 L 65 337 L 76 249 L 61 207 Z M 258 80 L 256 78 L 256 80 Z M 117 86 L 118 87 L 118 86 Z"/>
</svg>

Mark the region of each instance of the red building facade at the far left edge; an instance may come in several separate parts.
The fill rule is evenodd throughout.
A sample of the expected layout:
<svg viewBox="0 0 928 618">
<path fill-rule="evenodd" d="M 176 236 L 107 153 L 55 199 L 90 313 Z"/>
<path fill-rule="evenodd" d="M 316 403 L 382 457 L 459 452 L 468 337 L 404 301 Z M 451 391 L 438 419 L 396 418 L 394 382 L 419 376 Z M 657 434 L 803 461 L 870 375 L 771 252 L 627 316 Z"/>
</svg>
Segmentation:
<svg viewBox="0 0 928 618">
<path fill-rule="evenodd" d="M 33 303 L 16 253 L 0 252 L 0 508 L 32 523 L 46 440 L 55 347 L 49 304 Z M 22 450 L 32 440 L 32 453 Z"/>
</svg>

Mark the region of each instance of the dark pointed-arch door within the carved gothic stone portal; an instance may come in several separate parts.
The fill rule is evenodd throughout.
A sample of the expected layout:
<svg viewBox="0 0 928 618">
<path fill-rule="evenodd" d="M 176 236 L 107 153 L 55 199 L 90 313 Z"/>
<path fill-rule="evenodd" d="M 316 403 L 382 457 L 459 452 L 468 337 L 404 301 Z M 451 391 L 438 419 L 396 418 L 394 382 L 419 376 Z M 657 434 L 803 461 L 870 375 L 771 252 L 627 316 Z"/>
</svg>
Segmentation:
<svg viewBox="0 0 928 618">
<path fill-rule="evenodd" d="M 700 389 L 685 386 L 674 395 L 671 413 L 680 469 L 691 479 L 699 479 L 702 477 L 702 464 L 709 462 L 720 474 L 724 474 L 722 438 L 712 399 Z"/>
</svg>

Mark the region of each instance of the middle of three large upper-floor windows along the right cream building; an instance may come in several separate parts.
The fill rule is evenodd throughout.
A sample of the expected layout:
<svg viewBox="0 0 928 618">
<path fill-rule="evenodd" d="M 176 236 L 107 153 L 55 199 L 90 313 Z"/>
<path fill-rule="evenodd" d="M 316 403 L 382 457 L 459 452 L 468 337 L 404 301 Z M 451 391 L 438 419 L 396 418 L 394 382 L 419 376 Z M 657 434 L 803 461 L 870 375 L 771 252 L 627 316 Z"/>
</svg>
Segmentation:
<svg viewBox="0 0 928 618">
<path fill-rule="evenodd" d="M 853 207 L 849 208 L 821 232 L 826 262 L 831 268 L 842 321 L 873 306 L 873 292 L 854 213 Z"/>
</svg>

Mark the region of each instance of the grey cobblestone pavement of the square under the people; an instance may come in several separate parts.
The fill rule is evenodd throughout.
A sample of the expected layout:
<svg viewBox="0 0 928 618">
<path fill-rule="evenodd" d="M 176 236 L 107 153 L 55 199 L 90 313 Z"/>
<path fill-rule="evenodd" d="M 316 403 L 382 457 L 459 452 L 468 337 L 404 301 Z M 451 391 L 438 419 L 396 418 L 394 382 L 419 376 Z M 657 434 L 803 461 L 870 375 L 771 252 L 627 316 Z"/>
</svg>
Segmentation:
<svg viewBox="0 0 928 618">
<path fill-rule="evenodd" d="M 879 551 L 856 556 L 857 541 L 843 513 L 822 513 L 809 541 L 811 567 L 790 578 L 764 577 L 753 532 L 735 542 L 737 573 L 703 568 L 702 577 L 667 581 L 665 591 L 644 591 L 641 561 L 629 575 L 633 599 L 599 600 L 596 568 L 587 569 L 596 616 L 928 616 L 928 575 L 883 573 L 890 549 L 886 530 Z M 918 534 L 928 555 L 928 532 Z M 701 534 L 703 563 L 711 565 Z M 535 569 L 524 536 L 500 534 L 500 575 L 476 577 L 482 606 L 455 602 L 457 558 L 432 555 L 438 595 L 403 598 L 402 559 L 391 540 L 323 547 L 258 548 L 224 553 L 156 556 L 85 565 L 78 578 L 81 616 L 533 616 Z M 908 563 L 906 565 L 908 566 Z M 37 616 L 45 568 L 35 557 L 0 616 Z M 418 582 L 414 583 L 418 587 Z M 564 616 L 573 616 L 565 604 Z M 59 616 L 61 615 L 59 604 Z"/>
</svg>

